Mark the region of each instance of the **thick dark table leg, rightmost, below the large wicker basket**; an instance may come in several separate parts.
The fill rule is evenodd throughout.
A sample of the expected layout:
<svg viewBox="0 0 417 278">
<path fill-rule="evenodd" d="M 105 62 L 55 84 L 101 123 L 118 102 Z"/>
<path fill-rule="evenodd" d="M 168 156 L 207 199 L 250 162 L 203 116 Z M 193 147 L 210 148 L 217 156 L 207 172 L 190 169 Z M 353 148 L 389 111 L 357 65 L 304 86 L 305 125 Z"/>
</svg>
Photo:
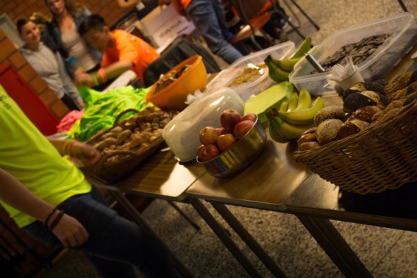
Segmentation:
<svg viewBox="0 0 417 278">
<path fill-rule="evenodd" d="M 372 277 L 365 265 L 347 245 L 332 222 L 306 213 L 296 213 L 297 218 L 316 239 L 339 270 L 346 277 Z"/>
</svg>

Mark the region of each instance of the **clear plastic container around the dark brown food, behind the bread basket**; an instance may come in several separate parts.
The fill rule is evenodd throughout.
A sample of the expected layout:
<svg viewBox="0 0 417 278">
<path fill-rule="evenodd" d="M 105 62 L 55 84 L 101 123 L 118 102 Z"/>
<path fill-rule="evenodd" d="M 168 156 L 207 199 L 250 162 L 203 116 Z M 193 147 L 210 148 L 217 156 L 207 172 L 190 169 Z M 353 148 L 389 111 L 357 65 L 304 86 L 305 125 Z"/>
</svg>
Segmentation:
<svg viewBox="0 0 417 278">
<path fill-rule="evenodd" d="M 345 44 L 359 42 L 371 35 L 391 33 L 391 36 L 375 50 L 363 63 L 359 64 L 359 72 L 366 81 L 382 79 L 392 67 L 414 47 L 417 40 L 417 24 L 414 15 L 402 13 L 393 17 L 379 19 L 345 28 L 331 35 L 322 42 L 323 53 L 319 62 L 332 56 Z M 297 69 L 290 74 L 290 81 L 300 90 L 304 88 L 313 95 L 325 95 L 334 91 L 332 83 L 327 81 L 328 72 L 306 74 L 305 70 Z"/>
</svg>

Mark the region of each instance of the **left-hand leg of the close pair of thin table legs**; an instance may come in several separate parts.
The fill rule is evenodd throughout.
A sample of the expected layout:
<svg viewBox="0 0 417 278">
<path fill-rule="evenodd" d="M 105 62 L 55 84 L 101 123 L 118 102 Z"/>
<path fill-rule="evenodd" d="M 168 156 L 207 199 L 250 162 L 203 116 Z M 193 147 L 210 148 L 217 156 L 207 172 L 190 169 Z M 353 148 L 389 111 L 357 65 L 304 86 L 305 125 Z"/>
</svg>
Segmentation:
<svg viewBox="0 0 417 278">
<path fill-rule="evenodd" d="M 218 236 L 222 243 L 226 245 L 227 249 L 234 255 L 234 257 L 238 260 L 240 265 L 245 268 L 247 273 L 251 277 L 261 277 L 261 274 L 256 270 L 254 265 L 247 259 L 247 257 L 243 254 L 243 252 L 239 249 L 239 247 L 231 240 L 229 234 L 223 229 L 222 225 L 215 220 L 213 215 L 207 210 L 207 208 L 200 202 L 198 199 L 189 199 L 190 204 L 195 208 L 195 210 L 199 213 L 199 215 L 204 219 L 204 221 L 208 224 L 213 232 Z"/>
</svg>

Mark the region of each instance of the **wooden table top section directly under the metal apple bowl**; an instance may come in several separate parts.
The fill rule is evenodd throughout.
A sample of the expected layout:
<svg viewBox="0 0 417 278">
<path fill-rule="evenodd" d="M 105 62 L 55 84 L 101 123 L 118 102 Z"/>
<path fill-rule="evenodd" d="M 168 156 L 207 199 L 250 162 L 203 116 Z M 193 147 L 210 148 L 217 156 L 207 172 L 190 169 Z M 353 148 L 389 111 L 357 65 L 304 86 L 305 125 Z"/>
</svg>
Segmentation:
<svg viewBox="0 0 417 278">
<path fill-rule="evenodd" d="M 218 179 L 206 173 L 186 194 L 225 204 L 284 210 L 282 204 L 309 175 L 288 155 L 294 147 L 269 139 L 261 156 L 236 176 Z"/>
</svg>

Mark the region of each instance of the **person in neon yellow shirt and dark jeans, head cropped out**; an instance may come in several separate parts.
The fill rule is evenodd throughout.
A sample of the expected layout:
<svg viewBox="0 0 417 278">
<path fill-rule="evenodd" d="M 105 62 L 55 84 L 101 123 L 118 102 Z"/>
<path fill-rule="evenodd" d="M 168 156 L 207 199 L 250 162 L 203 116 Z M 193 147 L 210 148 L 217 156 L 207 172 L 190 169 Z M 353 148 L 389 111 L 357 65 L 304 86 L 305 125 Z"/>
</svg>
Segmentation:
<svg viewBox="0 0 417 278">
<path fill-rule="evenodd" d="M 181 277 L 165 245 L 122 218 L 64 159 L 85 165 L 99 152 L 75 140 L 47 139 L 0 85 L 0 205 L 28 234 L 83 252 L 100 277 Z"/>
</svg>

